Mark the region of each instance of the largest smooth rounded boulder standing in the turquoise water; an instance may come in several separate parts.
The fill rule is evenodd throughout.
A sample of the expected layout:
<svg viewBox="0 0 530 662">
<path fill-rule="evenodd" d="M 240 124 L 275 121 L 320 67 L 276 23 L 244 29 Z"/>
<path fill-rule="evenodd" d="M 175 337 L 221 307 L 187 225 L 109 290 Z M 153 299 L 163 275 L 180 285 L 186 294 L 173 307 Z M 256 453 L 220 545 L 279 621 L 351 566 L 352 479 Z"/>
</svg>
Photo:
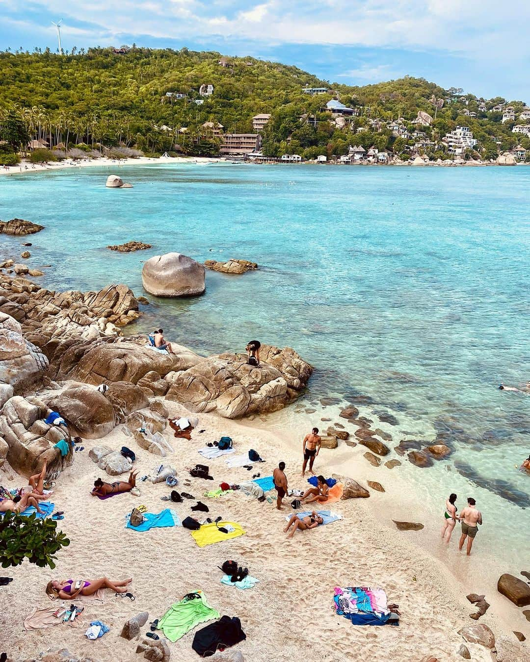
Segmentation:
<svg viewBox="0 0 530 662">
<path fill-rule="evenodd" d="M 205 268 L 182 253 L 156 255 L 144 263 L 142 285 L 156 297 L 194 297 L 205 291 Z"/>
</svg>

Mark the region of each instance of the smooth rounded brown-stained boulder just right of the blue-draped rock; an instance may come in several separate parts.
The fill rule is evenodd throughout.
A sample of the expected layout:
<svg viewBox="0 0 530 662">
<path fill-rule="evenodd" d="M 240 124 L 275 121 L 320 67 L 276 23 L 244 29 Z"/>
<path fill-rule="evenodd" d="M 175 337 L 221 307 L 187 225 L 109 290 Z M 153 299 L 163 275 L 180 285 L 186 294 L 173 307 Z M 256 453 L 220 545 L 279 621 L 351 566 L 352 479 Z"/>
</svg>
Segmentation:
<svg viewBox="0 0 530 662">
<path fill-rule="evenodd" d="M 116 426 L 111 402 L 86 384 L 70 386 L 58 395 L 43 397 L 43 400 L 61 414 L 72 434 L 84 439 L 100 439 Z"/>
</svg>

